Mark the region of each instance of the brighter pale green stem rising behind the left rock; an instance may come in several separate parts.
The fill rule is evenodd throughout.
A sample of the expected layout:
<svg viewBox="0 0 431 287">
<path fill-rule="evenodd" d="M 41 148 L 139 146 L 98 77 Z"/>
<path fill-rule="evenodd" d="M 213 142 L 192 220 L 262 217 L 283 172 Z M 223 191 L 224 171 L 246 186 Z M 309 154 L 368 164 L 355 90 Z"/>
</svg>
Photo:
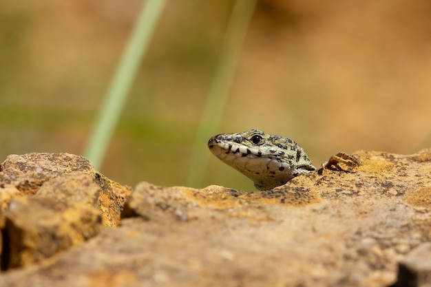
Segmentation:
<svg viewBox="0 0 431 287">
<path fill-rule="evenodd" d="M 105 101 L 85 147 L 84 155 L 100 169 L 109 142 L 134 83 L 139 65 L 160 18 L 166 0 L 147 0 L 138 14 L 129 41 L 109 85 Z"/>
</svg>

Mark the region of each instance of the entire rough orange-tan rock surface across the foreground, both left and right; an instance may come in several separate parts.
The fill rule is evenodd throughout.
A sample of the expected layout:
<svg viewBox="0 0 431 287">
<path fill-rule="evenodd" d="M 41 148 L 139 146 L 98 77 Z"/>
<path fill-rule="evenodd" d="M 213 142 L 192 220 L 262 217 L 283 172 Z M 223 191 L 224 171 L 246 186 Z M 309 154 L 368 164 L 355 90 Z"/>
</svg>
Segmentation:
<svg viewBox="0 0 431 287">
<path fill-rule="evenodd" d="M 130 195 L 81 157 L 10 156 L 0 286 L 431 286 L 431 149 L 355 154 L 353 172 L 271 191 L 141 182 Z"/>
</svg>

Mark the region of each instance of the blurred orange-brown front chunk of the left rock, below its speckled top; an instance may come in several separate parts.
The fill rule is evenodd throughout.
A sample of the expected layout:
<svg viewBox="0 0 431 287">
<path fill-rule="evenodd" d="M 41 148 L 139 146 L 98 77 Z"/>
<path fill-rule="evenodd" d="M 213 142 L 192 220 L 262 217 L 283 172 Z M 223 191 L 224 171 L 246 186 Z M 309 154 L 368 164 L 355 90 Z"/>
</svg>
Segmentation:
<svg viewBox="0 0 431 287">
<path fill-rule="evenodd" d="M 101 230 L 94 206 L 54 198 L 14 198 L 5 217 L 3 270 L 38 262 L 85 242 Z"/>
</svg>

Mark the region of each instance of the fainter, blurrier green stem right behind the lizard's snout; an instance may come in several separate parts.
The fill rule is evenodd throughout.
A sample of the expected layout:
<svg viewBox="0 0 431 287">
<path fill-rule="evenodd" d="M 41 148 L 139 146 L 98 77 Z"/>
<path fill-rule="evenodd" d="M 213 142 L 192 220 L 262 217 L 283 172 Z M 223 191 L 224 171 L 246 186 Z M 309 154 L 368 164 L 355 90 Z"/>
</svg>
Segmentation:
<svg viewBox="0 0 431 287">
<path fill-rule="evenodd" d="M 238 63 L 242 43 L 249 28 L 256 0 L 236 0 L 227 25 L 220 50 L 220 60 L 207 96 L 200 125 L 193 143 L 186 185 L 198 187 L 202 182 L 209 156 L 207 140 L 215 134 L 222 120 L 229 98 L 235 67 Z"/>
</svg>

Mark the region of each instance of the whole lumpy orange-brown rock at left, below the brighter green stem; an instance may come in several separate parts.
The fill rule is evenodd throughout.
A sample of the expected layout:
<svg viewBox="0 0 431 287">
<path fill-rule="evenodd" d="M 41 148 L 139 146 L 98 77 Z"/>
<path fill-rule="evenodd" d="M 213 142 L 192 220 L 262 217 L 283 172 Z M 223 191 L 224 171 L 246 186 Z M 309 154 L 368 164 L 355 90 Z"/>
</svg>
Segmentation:
<svg viewBox="0 0 431 287">
<path fill-rule="evenodd" d="M 12 155 L 0 164 L 1 269 L 27 266 L 116 226 L 127 187 L 69 153 Z"/>
</svg>

